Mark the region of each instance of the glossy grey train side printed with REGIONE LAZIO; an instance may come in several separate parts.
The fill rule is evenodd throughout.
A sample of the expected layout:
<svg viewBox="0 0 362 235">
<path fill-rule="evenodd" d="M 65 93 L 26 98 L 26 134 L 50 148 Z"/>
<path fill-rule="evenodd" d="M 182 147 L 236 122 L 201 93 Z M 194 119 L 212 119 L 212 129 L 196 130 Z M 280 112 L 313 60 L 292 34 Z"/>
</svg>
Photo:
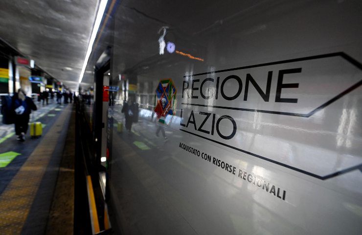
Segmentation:
<svg viewBox="0 0 362 235">
<path fill-rule="evenodd" d="M 361 2 L 110 2 L 113 227 L 362 234 Z"/>
</svg>

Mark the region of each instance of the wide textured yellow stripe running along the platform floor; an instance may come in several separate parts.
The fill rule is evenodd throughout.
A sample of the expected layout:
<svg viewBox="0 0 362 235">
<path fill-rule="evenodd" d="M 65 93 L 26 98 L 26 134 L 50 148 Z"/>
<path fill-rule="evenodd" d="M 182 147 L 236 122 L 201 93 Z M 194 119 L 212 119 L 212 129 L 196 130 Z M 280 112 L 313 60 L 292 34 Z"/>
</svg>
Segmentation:
<svg viewBox="0 0 362 235">
<path fill-rule="evenodd" d="M 69 116 L 63 112 L 0 195 L 1 234 L 20 234 L 54 147 Z M 25 142 L 26 144 L 26 142 Z"/>
</svg>

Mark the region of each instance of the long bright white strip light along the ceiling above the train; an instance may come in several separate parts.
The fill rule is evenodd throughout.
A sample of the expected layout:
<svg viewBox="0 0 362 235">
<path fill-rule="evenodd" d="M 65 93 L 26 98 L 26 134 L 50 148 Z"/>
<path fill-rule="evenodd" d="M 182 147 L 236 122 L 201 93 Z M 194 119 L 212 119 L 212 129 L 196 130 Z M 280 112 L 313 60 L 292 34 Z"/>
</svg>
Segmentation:
<svg viewBox="0 0 362 235">
<path fill-rule="evenodd" d="M 86 70 L 86 67 L 87 67 L 87 64 L 88 64 L 88 59 L 91 56 L 93 43 L 94 43 L 95 37 L 97 36 L 97 32 L 98 32 L 98 29 L 99 29 L 99 25 L 101 24 L 104 11 L 106 10 L 107 1 L 108 0 L 101 0 L 101 2 L 99 4 L 97 16 L 95 18 L 95 22 L 94 22 L 94 26 L 93 26 L 93 31 L 92 31 L 92 34 L 91 34 L 91 39 L 89 40 L 89 45 L 88 45 L 88 49 L 87 49 L 87 53 L 86 53 L 86 58 L 84 58 L 82 71 L 80 72 L 79 81 L 78 81 L 79 84 L 82 82 L 84 71 Z"/>
</svg>

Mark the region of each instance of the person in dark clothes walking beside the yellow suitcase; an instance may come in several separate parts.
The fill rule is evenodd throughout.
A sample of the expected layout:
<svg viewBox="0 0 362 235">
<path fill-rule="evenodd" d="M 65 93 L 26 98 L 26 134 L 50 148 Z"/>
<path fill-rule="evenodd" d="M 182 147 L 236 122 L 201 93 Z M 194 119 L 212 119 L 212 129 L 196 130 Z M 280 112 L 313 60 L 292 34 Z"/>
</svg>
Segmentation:
<svg viewBox="0 0 362 235">
<path fill-rule="evenodd" d="M 15 133 L 18 141 L 25 141 L 31 110 L 37 110 L 33 100 L 26 96 L 23 89 L 19 89 L 12 97 L 12 110 L 15 113 Z"/>
</svg>

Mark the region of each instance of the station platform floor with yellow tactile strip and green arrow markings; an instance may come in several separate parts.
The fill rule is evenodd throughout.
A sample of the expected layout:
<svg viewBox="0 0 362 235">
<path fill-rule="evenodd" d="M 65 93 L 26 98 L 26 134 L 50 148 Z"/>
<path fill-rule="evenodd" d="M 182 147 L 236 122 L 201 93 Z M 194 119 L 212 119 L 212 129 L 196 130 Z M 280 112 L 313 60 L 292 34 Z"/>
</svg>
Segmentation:
<svg viewBox="0 0 362 235">
<path fill-rule="evenodd" d="M 73 234 L 75 105 L 37 106 L 40 138 L 0 125 L 1 234 Z"/>
</svg>

